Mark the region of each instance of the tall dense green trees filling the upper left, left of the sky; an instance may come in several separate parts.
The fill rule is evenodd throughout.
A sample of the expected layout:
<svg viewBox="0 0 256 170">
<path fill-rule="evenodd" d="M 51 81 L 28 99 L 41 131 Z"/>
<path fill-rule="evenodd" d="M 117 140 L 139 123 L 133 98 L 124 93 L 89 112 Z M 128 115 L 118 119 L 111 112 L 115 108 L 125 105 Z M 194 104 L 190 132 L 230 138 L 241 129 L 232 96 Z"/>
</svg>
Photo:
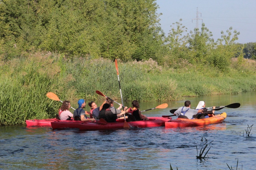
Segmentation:
<svg viewBox="0 0 256 170">
<path fill-rule="evenodd" d="M 73 0 L 0 3 L 0 55 L 57 51 L 71 56 L 159 59 L 158 6 L 150 1 Z"/>
</svg>

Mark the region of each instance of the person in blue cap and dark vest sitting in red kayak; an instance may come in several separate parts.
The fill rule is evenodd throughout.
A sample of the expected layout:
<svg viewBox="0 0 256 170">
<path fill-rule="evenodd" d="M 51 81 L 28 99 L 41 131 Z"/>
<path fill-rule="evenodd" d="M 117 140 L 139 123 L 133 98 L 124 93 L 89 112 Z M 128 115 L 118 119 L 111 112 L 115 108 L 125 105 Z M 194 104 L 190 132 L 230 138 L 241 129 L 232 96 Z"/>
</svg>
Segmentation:
<svg viewBox="0 0 256 170">
<path fill-rule="evenodd" d="M 86 115 L 85 115 L 85 111 L 84 111 L 84 107 L 86 105 L 85 100 L 84 99 L 80 99 L 78 102 L 78 108 L 75 109 L 74 111 L 74 120 L 81 120 L 81 121 L 92 121 L 94 122 L 95 119 L 91 118 L 91 119 L 87 119 Z"/>
</svg>

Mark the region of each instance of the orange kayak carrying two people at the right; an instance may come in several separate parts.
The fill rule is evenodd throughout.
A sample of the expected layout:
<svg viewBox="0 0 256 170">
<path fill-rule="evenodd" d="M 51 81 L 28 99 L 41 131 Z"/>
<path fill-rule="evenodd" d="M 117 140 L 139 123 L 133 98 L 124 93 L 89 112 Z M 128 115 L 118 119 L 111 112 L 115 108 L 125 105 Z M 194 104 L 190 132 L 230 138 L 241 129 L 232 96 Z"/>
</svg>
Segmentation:
<svg viewBox="0 0 256 170">
<path fill-rule="evenodd" d="M 189 126 L 202 126 L 207 124 L 213 124 L 222 122 L 226 117 L 227 114 L 221 113 L 219 115 L 209 115 L 211 117 L 205 118 L 205 119 L 183 119 L 183 118 L 177 118 L 170 120 L 168 122 L 165 122 L 166 128 L 177 128 L 177 127 L 189 127 Z"/>
</svg>

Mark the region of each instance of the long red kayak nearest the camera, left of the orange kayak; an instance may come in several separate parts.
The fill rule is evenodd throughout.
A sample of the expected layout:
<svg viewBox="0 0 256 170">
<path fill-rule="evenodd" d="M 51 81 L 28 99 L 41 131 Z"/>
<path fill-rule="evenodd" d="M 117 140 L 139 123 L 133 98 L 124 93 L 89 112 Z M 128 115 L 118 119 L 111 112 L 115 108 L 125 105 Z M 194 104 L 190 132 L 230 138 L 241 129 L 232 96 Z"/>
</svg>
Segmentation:
<svg viewBox="0 0 256 170">
<path fill-rule="evenodd" d="M 150 128 L 165 126 L 165 122 L 171 120 L 171 118 L 163 117 L 148 117 L 149 120 L 127 122 L 130 127 L 137 128 Z M 105 130 L 105 129 L 121 129 L 124 128 L 124 119 L 117 119 L 115 123 L 107 122 L 81 122 L 81 121 L 54 121 L 51 122 L 53 129 L 63 129 L 63 128 L 78 128 L 80 130 Z"/>
</svg>

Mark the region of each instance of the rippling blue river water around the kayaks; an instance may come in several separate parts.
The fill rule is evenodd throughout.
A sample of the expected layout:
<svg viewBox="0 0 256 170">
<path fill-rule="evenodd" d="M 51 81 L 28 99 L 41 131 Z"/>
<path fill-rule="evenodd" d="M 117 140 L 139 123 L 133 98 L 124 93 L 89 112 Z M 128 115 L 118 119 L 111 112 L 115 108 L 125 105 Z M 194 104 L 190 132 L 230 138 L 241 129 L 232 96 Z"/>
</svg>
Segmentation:
<svg viewBox="0 0 256 170">
<path fill-rule="evenodd" d="M 170 169 L 170 164 L 179 170 L 236 169 L 237 160 L 238 169 L 256 169 L 256 92 L 186 100 L 191 101 L 191 108 L 201 100 L 207 107 L 241 106 L 216 111 L 227 113 L 225 121 L 201 127 L 53 131 L 51 127 L 0 126 L 0 169 Z M 162 103 L 141 102 L 140 109 Z M 167 103 L 166 109 L 144 114 L 171 115 L 170 109 L 184 105 L 184 101 Z M 250 137 L 245 136 L 248 125 L 253 125 Z M 203 144 L 211 141 L 208 158 L 197 159 L 196 146 L 200 152 Z"/>
</svg>

